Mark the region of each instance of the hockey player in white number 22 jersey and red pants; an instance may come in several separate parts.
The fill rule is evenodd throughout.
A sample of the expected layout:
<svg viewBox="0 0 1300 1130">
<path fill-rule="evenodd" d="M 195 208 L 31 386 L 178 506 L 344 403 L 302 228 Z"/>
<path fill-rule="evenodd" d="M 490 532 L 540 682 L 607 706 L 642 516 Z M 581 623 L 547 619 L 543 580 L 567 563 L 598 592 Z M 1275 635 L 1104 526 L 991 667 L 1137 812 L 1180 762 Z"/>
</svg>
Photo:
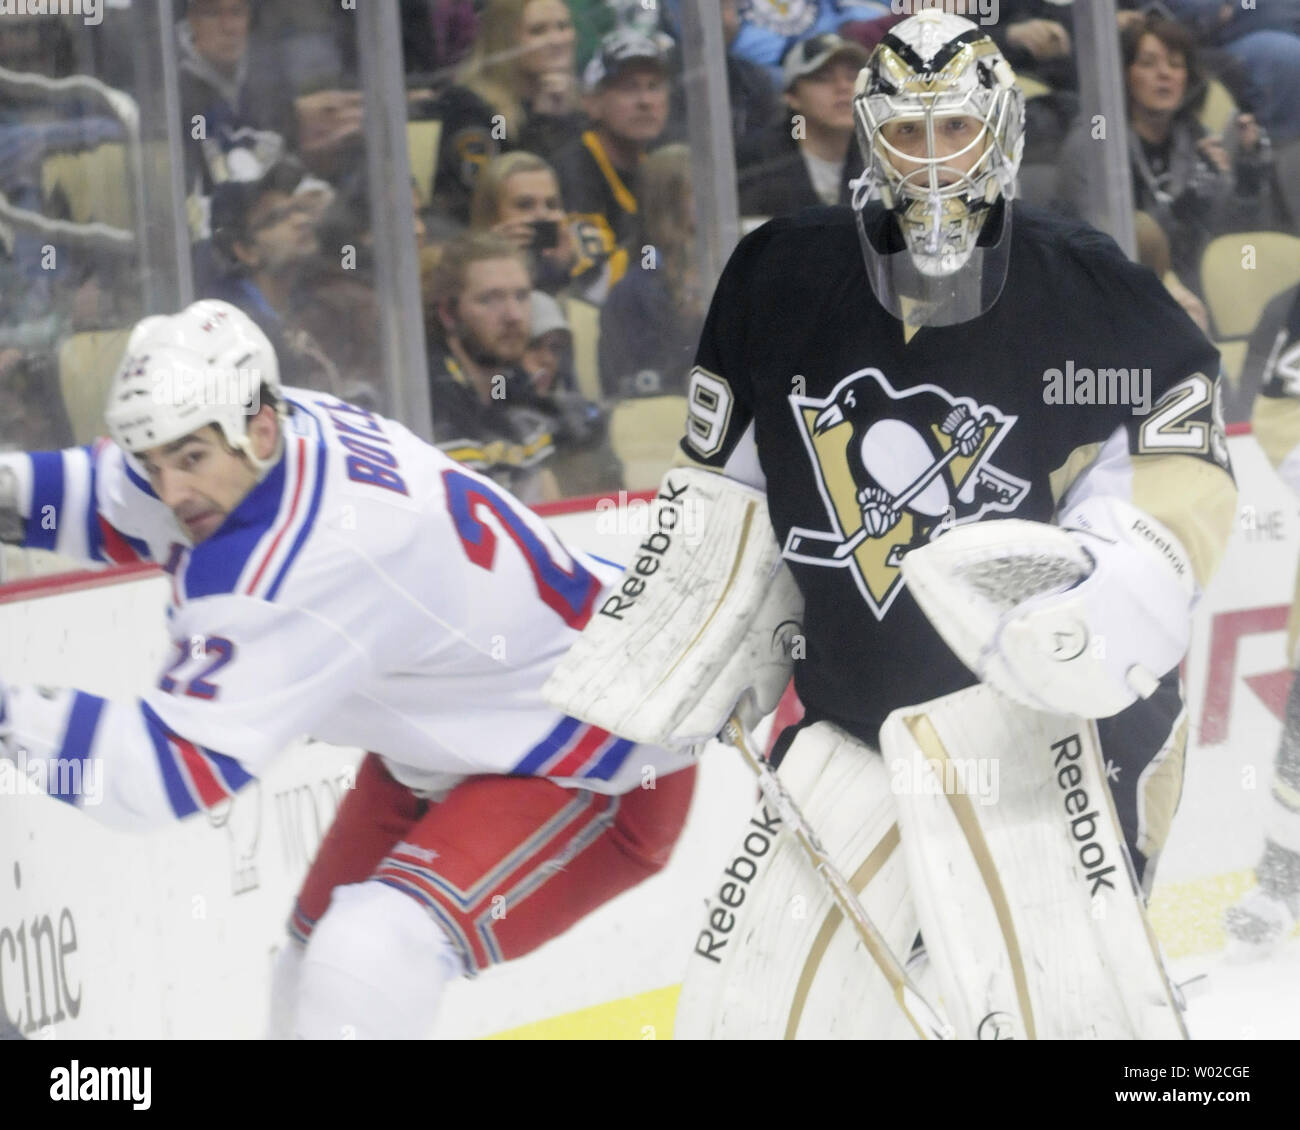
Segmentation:
<svg viewBox="0 0 1300 1130">
<path fill-rule="evenodd" d="M 689 753 L 541 696 L 616 568 L 400 424 L 282 388 L 225 303 L 135 328 L 107 423 L 0 455 L 0 536 L 159 562 L 174 653 L 135 700 L 0 683 L 0 756 L 101 762 L 84 810 L 130 828 L 224 801 L 302 736 L 368 750 L 292 914 L 276 1031 L 424 1035 L 450 978 L 667 862 Z"/>
</svg>

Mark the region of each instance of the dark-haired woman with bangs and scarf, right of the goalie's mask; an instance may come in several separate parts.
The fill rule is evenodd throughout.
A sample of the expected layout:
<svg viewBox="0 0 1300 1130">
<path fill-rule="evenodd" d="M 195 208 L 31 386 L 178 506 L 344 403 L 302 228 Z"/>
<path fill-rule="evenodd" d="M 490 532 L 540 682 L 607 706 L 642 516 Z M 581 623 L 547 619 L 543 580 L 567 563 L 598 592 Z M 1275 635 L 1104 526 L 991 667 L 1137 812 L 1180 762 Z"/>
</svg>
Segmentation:
<svg viewBox="0 0 1300 1130">
<path fill-rule="evenodd" d="M 1130 159 L 1135 207 L 1169 237 L 1174 270 L 1199 293 L 1200 255 L 1226 231 L 1268 226 L 1266 148 L 1249 114 L 1209 135 L 1188 103 L 1200 77 L 1192 38 L 1178 23 L 1150 17 L 1121 33 L 1128 94 Z M 1079 121 L 1061 155 L 1058 198 L 1088 213 L 1092 124 Z"/>
</svg>

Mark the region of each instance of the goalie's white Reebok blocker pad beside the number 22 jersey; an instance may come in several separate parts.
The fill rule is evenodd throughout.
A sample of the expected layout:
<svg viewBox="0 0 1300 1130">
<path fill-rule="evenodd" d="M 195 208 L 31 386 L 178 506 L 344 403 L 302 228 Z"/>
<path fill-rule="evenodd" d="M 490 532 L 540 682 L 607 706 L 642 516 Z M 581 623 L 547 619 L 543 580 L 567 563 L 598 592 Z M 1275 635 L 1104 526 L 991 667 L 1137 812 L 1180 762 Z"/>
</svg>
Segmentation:
<svg viewBox="0 0 1300 1130">
<path fill-rule="evenodd" d="M 759 711 L 775 709 L 792 668 L 780 644 L 802 599 L 759 490 L 698 468 L 670 471 L 651 531 L 543 693 L 621 737 L 697 745 L 746 690 Z"/>
</svg>

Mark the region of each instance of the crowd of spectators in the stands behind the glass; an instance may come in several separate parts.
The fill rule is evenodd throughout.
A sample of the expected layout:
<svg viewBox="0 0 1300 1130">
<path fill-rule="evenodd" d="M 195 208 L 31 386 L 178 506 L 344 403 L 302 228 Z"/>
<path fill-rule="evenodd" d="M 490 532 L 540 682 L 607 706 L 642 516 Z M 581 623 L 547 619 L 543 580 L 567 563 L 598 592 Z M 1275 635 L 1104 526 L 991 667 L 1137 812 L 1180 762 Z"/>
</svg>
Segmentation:
<svg viewBox="0 0 1300 1130">
<path fill-rule="evenodd" d="M 74 40 L 58 17 L 4 21 L 0 66 L 130 88 L 139 22 L 126 7 L 109 9 L 94 39 Z M 286 380 L 385 411 L 354 13 L 315 0 L 174 7 L 196 295 L 252 315 L 280 345 Z M 850 199 L 863 164 L 854 77 L 905 18 L 897 7 L 719 0 L 748 226 Z M 1139 251 L 1213 332 L 1206 244 L 1300 233 L 1300 0 L 1119 7 Z M 417 378 L 437 441 L 528 501 L 649 485 L 624 482 L 611 412 L 682 395 L 708 299 L 684 144 L 680 0 L 399 9 L 428 341 Z M 1086 173 L 1105 139 L 1079 114 L 1070 8 L 1001 0 L 998 12 L 989 31 L 1027 91 L 1023 195 L 1087 217 Z M 1208 121 L 1216 98 L 1226 116 Z M 66 216 L 43 181 L 47 159 L 114 142 L 120 124 L 101 108 L 10 104 L 0 191 Z M 130 256 L 70 252 L 51 272 L 39 268 L 46 242 L 0 224 L 0 445 L 62 442 L 60 342 L 138 315 Z"/>
</svg>

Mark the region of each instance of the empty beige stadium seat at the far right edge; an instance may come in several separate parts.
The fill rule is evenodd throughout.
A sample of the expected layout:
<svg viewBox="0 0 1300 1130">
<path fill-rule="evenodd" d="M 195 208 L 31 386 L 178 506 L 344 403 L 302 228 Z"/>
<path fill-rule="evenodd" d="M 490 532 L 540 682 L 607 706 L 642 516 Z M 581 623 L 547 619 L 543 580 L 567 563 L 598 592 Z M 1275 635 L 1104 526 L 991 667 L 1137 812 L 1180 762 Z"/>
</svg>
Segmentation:
<svg viewBox="0 0 1300 1130">
<path fill-rule="evenodd" d="M 1254 267 L 1243 267 L 1245 248 Z M 1279 291 L 1300 282 L 1300 238 L 1282 231 L 1234 231 L 1201 256 L 1201 290 L 1218 339 L 1244 338 Z"/>
</svg>

